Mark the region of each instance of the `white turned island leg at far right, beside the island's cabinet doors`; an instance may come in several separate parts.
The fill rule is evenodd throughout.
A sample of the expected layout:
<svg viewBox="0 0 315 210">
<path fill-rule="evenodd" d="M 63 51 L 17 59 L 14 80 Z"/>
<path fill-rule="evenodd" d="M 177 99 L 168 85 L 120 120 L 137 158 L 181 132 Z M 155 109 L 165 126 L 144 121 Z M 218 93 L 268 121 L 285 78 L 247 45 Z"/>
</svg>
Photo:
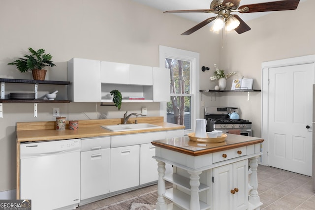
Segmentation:
<svg viewBox="0 0 315 210">
<path fill-rule="evenodd" d="M 250 191 L 250 203 L 253 206 L 257 206 L 256 210 L 260 210 L 260 206 L 262 203 L 260 202 L 260 198 L 258 196 L 258 178 L 257 178 L 257 164 L 258 157 L 250 158 L 250 166 L 252 170 L 250 185 L 252 186 L 252 190 Z"/>
</svg>

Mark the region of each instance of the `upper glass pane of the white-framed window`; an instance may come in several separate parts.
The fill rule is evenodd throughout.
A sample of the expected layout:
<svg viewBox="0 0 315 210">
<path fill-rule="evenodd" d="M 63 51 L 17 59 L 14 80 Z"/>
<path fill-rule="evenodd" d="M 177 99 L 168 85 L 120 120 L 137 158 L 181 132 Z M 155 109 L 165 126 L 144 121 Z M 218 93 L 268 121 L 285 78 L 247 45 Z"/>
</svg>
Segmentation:
<svg viewBox="0 0 315 210">
<path fill-rule="evenodd" d="M 165 67 L 171 70 L 171 93 L 190 94 L 190 61 L 167 58 Z"/>
</svg>

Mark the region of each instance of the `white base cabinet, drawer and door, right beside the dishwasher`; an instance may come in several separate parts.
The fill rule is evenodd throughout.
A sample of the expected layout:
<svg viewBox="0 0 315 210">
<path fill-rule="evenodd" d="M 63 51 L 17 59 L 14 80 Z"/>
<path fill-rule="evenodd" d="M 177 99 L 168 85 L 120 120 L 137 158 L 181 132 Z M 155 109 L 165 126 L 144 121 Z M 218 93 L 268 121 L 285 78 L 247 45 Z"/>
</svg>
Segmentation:
<svg viewBox="0 0 315 210">
<path fill-rule="evenodd" d="M 81 140 L 81 201 L 109 193 L 110 137 Z"/>
</svg>

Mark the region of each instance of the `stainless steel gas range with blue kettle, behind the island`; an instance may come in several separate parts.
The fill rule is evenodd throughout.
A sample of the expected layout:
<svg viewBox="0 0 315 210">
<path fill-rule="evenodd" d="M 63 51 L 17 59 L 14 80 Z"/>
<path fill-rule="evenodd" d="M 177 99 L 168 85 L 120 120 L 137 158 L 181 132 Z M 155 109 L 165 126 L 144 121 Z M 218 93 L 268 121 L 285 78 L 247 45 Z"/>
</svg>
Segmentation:
<svg viewBox="0 0 315 210">
<path fill-rule="evenodd" d="M 252 122 L 249 120 L 229 119 L 228 114 L 236 112 L 236 107 L 205 107 L 205 119 L 207 120 L 207 131 L 222 130 L 228 133 L 229 130 L 240 130 L 241 135 L 252 136 Z"/>
</svg>

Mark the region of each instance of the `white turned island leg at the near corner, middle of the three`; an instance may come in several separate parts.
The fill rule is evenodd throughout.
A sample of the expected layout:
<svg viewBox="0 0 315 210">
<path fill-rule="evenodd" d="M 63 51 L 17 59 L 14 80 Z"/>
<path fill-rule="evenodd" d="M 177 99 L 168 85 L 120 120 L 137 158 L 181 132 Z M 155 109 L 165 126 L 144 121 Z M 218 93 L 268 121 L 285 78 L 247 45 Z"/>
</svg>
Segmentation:
<svg viewBox="0 0 315 210">
<path fill-rule="evenodd" d="M 199 202 L 199 175 L 201 171 L 193 172 L 188 171 L 190 174 L 190 210 L 200 210 L 200 202 Z"/>
</svg>

